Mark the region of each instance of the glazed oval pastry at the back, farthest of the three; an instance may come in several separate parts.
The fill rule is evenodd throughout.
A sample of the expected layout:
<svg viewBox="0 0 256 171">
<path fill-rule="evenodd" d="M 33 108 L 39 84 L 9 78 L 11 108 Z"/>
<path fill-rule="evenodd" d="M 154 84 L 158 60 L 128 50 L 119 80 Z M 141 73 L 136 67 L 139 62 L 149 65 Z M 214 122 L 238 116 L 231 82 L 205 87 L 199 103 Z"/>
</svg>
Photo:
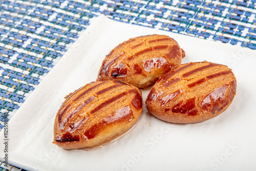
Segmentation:
<svg viewBox="0 0 256 171">
<path fill-rule="evenodd" d="M 97 80 L 116 79 L 145 89 L 179 66 L 184 56 L 177 41 L 169 36 L 154 34 L 130 38 L 106 55 Z"/>
</svg>

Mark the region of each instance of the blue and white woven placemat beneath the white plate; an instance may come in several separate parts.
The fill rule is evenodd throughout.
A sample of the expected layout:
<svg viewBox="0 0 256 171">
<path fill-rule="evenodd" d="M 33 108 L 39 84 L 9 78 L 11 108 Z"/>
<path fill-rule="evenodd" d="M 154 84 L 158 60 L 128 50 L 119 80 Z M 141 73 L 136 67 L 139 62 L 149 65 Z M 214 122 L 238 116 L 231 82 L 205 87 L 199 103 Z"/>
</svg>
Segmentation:
<svg viewBox="0 0 256 171">
<path fill-rule="evenodd" d="M 101 15 L 256 49 L 256 0 L 0 0 L 0 131 L 80 33 Z M 0 170 L 21 170 L 0 163 Z"/>
</svg>

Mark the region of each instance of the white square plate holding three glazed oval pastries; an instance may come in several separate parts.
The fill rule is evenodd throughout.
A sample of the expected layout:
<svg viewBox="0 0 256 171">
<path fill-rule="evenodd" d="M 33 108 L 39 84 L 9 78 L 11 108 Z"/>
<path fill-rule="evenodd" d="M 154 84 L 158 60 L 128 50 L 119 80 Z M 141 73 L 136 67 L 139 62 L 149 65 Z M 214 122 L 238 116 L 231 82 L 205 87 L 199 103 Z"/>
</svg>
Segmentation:
<svg viewBox="0 0 256 171">
<path fill-rule="evenodd" d="M 207 60 L 231 68 L 238 87 L 229 108 L 201 123 L 173 124 L 156 119 L 144 107 L 133 129 L 113 142 L 87 151 L 53 144 L 54 118 L 63 97 L 95 81 L 105 55 L 119 43 L 147 34 L 177 40 L 186 52 L 182 63 Z M 28 170 L 255 170 L 255 64 L 256 51 L 247 48 L 99 16 L 8 122 L 9 163 Z M 142 90 L 143 101 L 149 90 Z M 1 150 L 0 160 L 4 156 Z"/>
</svg>

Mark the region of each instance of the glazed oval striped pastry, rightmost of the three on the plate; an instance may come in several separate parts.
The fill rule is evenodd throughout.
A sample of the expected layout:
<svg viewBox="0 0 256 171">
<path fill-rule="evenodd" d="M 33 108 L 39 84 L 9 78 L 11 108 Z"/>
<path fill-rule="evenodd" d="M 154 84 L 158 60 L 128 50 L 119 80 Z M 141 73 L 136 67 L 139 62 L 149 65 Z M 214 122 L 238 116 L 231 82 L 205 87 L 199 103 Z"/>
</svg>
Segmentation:
<svg viewBox="0 0 256 171">
<path fill-rule="evenodd" d="M 147 110 L 161 120 L 196 123 L 224 112 L 236 88 L 236 77 L 227 66 L 190 62 L 161 76 L 145 103 Z"/>
</svg>

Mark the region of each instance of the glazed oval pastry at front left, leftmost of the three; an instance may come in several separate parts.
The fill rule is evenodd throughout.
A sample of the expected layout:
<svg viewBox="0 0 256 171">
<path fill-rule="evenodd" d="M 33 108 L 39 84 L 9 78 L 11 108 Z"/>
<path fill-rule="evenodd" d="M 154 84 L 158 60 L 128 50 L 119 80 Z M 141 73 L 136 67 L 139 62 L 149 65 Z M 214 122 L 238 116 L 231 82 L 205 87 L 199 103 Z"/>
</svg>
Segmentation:
<svg viewBox="0 0 256 171">
<path fill-rule="evenodd" d="M 118 80 L 96 81 L 65 97 L 54 122 L 54 142 L 66 149 L 100 145 L 120 136 L 142 113 L 141 91 Z"/>
</svg>

